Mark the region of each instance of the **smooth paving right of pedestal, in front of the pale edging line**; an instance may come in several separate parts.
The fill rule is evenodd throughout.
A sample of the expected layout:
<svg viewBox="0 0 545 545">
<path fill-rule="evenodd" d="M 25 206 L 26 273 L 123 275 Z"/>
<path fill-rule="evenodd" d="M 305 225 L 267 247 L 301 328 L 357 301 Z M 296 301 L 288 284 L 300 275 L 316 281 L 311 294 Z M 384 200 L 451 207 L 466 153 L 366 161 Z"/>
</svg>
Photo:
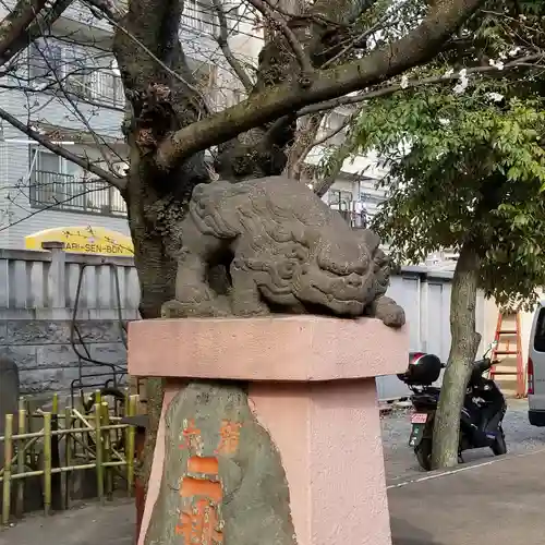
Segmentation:
<svg viewBox="0 0 545 545">
<path fill-rule="evenodd" d="M 388 491 L 393 545 L 543 543 L 545 450 Z"/>
</svg>

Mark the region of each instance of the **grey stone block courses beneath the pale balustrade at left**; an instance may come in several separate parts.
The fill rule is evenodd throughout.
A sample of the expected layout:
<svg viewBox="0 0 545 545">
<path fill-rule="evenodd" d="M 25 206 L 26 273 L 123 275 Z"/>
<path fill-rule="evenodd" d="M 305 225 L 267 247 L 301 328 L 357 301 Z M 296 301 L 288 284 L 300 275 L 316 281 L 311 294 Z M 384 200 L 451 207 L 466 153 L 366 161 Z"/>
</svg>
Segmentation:
<svg viewBox="0 0 545 545">
<path fill-rule="evenodd" d="M 118 320 L 93 319 L 77 322 L 84 346 L 75 344 L 81 354 L 100 363 L 126 370 L 126 349 Z M 70 341 L 71 322 L 53 319 L 0 320 L 0 355 L 14 361 L 19 367 L 21 393 L 40 395 L 69 392 L 71 384 L 80 376 L 80 358 Z M 97 363 L 82 362 L 86 375 L 107 376 L 86 378 L 93 386 L 104 384 L 112 370 Z M 122 377 L 124 380 L 124 377 Z"/>
</svg>

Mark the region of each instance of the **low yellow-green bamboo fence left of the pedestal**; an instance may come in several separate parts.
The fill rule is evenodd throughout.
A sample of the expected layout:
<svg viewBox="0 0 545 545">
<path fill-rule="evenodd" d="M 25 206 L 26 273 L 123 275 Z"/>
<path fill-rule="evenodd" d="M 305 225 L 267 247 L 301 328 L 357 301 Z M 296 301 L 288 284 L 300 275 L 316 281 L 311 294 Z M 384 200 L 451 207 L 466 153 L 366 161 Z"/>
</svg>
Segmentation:
<svg viewBox="0 0 545 545">
<path fill-rule="evenodd" d="M 58 485 L 62 507 L 70 508 L 71 476 L 73 472 L 94 470 L 97 496 L 100 501 L 111 498 L 114 483 L 120 476 L 129 495 L 134 486 L 135 428 L 121 424 L 117 410 L 95 392 L 90 414 L 66 407 L 59 412 L 59 398 L 53 396 L 50 412 L 38 410 L 31 414 L 28 402 L 20 400 L 16 415 L 5 415 L 4 435 L 0 436 L 4 462 L 0 468 L 2 491 L 1 523 L 8 524 L 12 514 L 22 517 L 25 504 L 25 483 L 28 477 L 40 477 L 45 514 L 51 512 L 52 483 L 60 475 Z M 137 413 L 138 396 L 126 396 L 124 414 Z M 32 432 L 38 422 L 38 432 Z M 63 443 L 64 456 L 60 460 L 59 446 Z"/>
</svg>

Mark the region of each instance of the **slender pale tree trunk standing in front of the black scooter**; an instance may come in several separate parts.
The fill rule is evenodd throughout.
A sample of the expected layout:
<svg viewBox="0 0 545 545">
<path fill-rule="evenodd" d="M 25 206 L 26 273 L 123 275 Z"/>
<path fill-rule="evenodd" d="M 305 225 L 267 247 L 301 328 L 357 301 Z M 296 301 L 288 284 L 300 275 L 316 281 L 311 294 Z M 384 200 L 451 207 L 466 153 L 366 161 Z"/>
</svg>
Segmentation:
<svg viewBox="0 0 545 545">
<path fill-rule="evenodd" d="M 460 252 L 450 298 L 450 354 L 437 409 L 432 467 L 452 468 L 458 463 L 460 413 L 481 335 L 475 330 L 475 305 L 480 257 L 471 242 Z"/>
</svg>

